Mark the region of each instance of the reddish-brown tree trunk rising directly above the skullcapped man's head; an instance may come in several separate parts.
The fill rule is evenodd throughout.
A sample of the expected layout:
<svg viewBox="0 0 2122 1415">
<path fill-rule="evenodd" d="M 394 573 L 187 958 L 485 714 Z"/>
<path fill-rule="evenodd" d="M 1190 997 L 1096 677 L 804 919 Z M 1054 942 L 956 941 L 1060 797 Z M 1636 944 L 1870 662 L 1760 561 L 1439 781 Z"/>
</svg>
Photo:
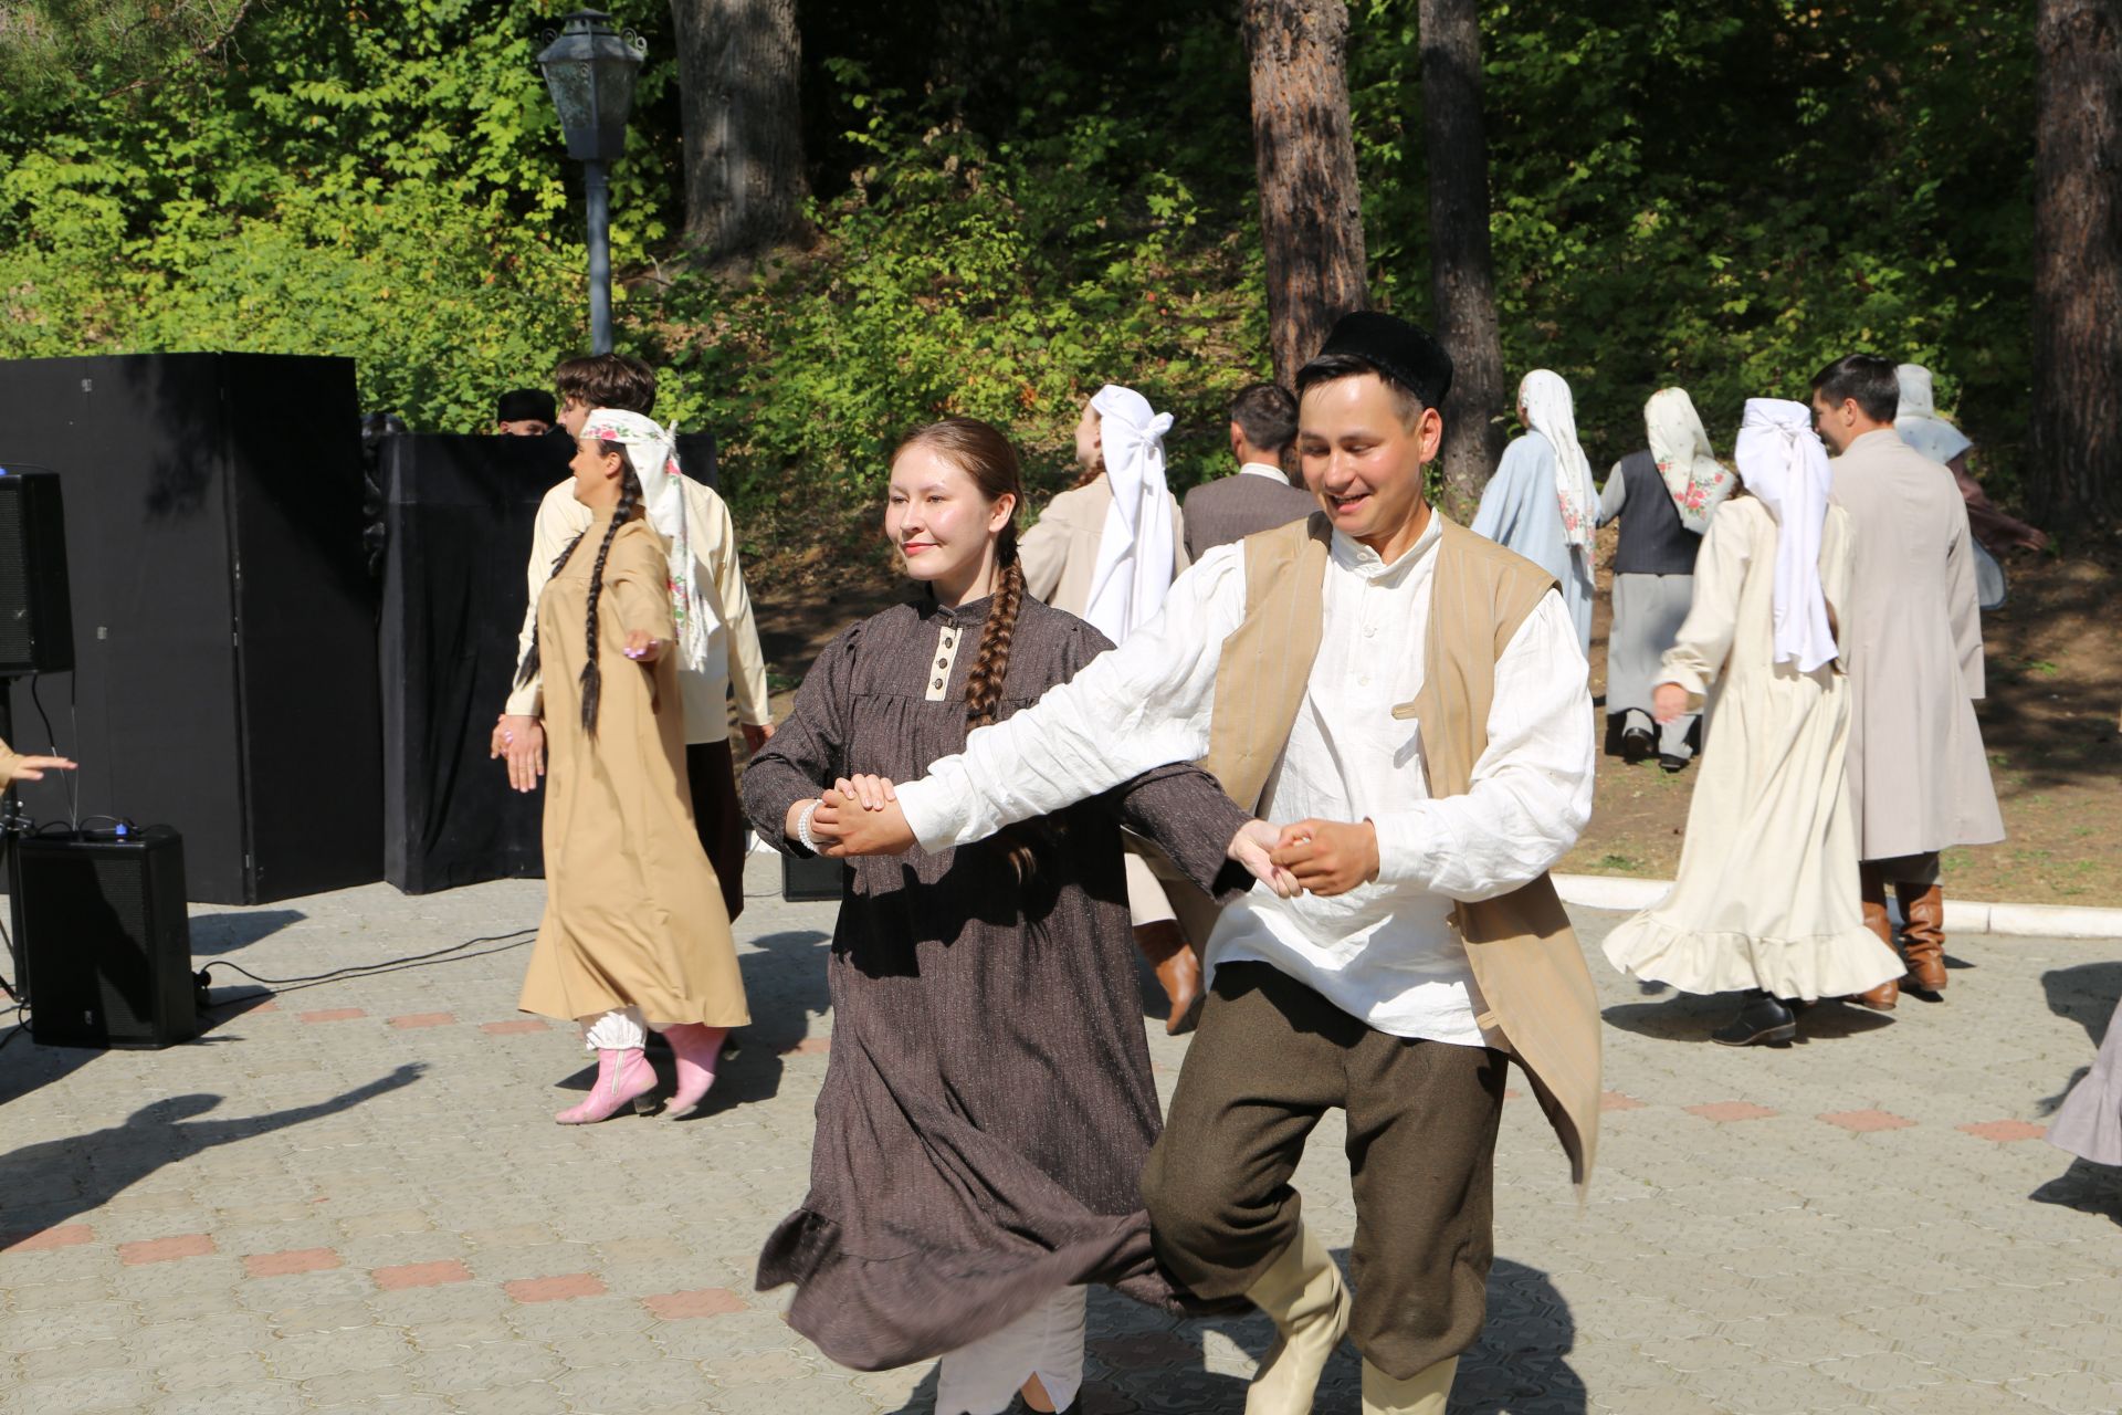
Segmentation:
<svg viewBox="0 0 2122 1415">
<path fill-rule="evenodd" d="M 1343 0 L 1246 0 L 1252 155 L 1275 382 L 1290 386 L 1326 331 L 1362 310 L 1362 195 L 1347 121 Z"/>
</svg>

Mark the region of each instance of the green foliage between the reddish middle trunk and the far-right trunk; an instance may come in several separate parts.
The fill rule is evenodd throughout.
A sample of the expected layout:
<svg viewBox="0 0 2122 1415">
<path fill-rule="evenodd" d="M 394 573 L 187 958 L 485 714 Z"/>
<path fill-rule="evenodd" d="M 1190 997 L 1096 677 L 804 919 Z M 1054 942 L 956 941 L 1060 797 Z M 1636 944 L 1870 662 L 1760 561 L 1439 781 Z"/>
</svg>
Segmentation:
<svg viewBox="0 0 2122 1415">
<path fill-rule="evenodd" d="M 1375 293 L 1420 312 L 1409 8 L 1373 0 L 1350 49 Z M 1689 388 L 1729 448 L 1746 397 L 1806 399 L 1821 365 L 1859 350 L 1937 371 L 1988 469 L 2016 452 L 2031 15 L 1969 0 L 1490 4 L 1483 64 L 1504 367 L 1570 380 L 1600 465 L 1642 443 L 1642 401 L 1666 384 Z"/>
</svg>

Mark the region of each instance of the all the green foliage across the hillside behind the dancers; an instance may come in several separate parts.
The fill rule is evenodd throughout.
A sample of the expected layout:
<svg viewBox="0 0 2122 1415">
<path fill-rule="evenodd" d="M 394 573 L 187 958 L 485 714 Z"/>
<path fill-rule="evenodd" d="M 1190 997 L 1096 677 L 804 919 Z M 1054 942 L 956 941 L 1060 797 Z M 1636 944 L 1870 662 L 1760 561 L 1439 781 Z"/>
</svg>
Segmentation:
<svg viewBox="0 0 2122 1415">
<path fill-rule="evenodd" d="M 53 15 L 127 4 L 8 11 L 0 72 L 62 42 Z M 151 87 L 76 25 L 66 83 L 0 87 L 0 356 L 335 352 L 367 407 L 484 424 L 584 342 L 577 174 L 535 68 L 558 8 L 274 0 Z M 1267 363 L 1235 6 L 808 0 L 813 229 L 745 280 L 671 263 L 668 19 L 618 11 L 651 47 L 613 174 L 622 346 L 741 494 L 870 496 L 942 412 L 1008 426 L 1053 486 L 1106 380 L 1176 412 L 1178 484 L 1222 469 L 1222 403 Z M 1373 297 L 1422 316 L 1415 6 L 1352 11 Z M 1869 348 L 1937 371 L 1997 488 L 2029 384 L 2031 15 L 1500 2 L 1483 47 L 1507 367 L 1570 378 L 1594 458 L 1640 441 L 1657 386 L 1729 448 L 1744 397 Z"/>
</svg>

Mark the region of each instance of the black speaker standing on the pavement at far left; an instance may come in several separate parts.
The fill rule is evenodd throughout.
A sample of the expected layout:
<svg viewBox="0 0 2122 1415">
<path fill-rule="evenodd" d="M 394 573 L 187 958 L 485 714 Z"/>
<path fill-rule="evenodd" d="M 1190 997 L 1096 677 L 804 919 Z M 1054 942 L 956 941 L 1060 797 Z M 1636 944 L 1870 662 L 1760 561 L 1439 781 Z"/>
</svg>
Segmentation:
<svg viewBox="0 0 2122 1415">
<path fill-rule="evenodd" d="M 25 836 L 8 874 L 40 1046 L 157 1048 L 199 1035 L 174 829 Z"/>
</svg>

